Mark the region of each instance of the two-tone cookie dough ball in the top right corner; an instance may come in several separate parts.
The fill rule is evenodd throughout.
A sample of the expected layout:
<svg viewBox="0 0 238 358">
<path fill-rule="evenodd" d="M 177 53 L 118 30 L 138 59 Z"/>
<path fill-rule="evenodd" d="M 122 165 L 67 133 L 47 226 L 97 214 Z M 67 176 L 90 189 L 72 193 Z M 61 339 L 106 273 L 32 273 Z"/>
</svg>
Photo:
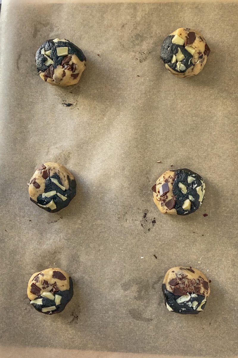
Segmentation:
<svg viewBox="0 0 238 358">
<path fill-rule="evenodd" d="M 160 58 L 168 71 L 187 77 L 202 71 L 209 53 L 206 40 L 199 32 L 182 27 L 163 40 Z"/>
</svg>

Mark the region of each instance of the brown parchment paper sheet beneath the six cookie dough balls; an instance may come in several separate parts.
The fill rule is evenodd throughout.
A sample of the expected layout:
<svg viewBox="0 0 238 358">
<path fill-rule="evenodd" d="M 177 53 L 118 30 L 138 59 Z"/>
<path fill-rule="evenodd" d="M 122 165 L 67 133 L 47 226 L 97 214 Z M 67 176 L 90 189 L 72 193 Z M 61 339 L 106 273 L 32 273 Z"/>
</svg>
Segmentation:
<svg viewBox="0 0 238 358">
<path fill-rule="evenodd" d="M 237 15 L 237 3 L 3 4 L 1 357 L 237 356 Z M 181 26 L 211 47 L 194 78 L 173 77 L 159 59 Z M 54 37 L 87 57 L 77 86 L 36 73 L 35 52 Z M 56 214 L 28 196 L 46 161 L 78 185 Z M 203 176 L 206 199 L 191 216 L 163 216 L 151 187 L 184 167 Z M 212 280 L 197 316 L 164 306 L 162 279 L 177 265 Z M 70 273 L 75 293 L 46 316 L 26 286 L 50 266 Z"/>
</svg>

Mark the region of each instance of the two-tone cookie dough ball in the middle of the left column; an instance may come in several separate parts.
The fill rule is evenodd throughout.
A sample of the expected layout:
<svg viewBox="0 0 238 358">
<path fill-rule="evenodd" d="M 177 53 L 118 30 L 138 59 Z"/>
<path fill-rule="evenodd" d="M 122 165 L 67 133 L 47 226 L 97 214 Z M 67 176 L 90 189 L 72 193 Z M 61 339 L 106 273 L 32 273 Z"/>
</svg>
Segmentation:
<svg viewBox="0 0 238 358">
<path fill-rule="evenodd" d="M 30 200 L 50 213 L 68 206 L 76 195 L 74 175 L 58 163 L 42 164 L 27 185 Z"/>
</svg>

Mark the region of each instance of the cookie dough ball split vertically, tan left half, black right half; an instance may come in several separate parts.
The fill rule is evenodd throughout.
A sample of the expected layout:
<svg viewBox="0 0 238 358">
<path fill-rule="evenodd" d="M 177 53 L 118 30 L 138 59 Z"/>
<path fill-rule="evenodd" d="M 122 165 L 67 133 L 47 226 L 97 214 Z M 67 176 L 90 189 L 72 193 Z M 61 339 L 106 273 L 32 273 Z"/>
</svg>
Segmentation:
<svg viewBox="0 0 238 358">
<path fill-rule="evenodd" d="M 205 184 L 192 170 L 168 170 L 159 177 L 152 191 L 162 214 L 188 215 L 202 204 Z"/>
</svg>

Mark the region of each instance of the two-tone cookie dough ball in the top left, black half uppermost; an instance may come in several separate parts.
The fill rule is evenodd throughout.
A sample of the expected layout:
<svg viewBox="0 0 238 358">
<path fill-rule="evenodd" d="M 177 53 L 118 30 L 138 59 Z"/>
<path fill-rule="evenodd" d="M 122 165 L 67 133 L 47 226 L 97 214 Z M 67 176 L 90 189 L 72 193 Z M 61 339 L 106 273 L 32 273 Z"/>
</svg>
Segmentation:
<svg viewBox="0 0 238 358">
<path fill-rule="evenodd" d="M 65 39 L 47 40 L 36 51 L 36 68 L 40 77 L 56 86 L 78 83 L 85 62 L 82 50 Z"/>
</svg>

